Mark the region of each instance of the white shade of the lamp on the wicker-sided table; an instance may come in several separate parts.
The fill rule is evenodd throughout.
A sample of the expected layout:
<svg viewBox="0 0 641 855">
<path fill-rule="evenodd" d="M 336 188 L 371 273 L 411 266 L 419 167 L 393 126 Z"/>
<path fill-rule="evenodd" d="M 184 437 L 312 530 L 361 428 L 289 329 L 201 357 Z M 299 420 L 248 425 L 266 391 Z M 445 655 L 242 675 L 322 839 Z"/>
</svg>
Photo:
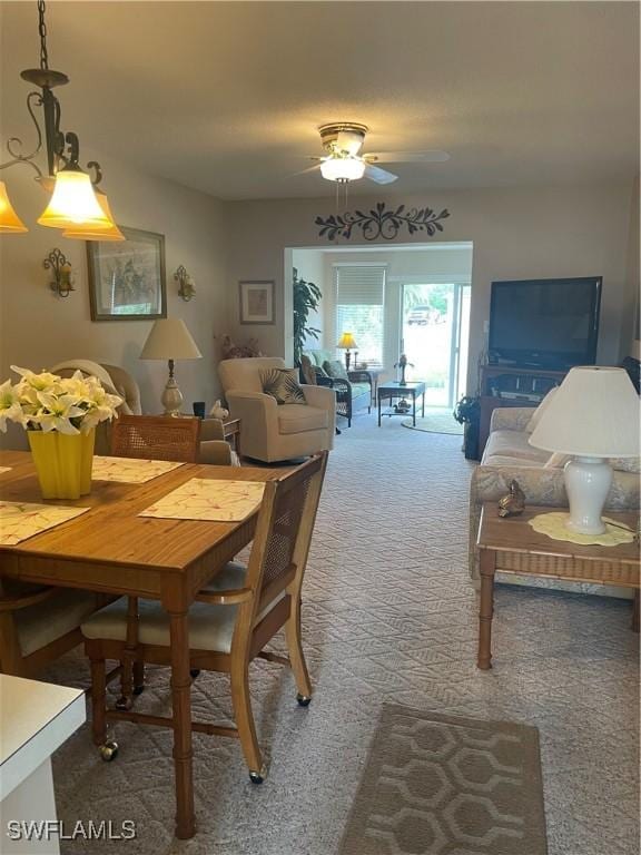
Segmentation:
<svg viewBox="0 0 641 855">
<path fill-rule="evenodd" d="M 640 403 L 623 368 L 571 368 L 530 436 L 530 444 L 585 458 L 640 453 Z"/>
</svg>

